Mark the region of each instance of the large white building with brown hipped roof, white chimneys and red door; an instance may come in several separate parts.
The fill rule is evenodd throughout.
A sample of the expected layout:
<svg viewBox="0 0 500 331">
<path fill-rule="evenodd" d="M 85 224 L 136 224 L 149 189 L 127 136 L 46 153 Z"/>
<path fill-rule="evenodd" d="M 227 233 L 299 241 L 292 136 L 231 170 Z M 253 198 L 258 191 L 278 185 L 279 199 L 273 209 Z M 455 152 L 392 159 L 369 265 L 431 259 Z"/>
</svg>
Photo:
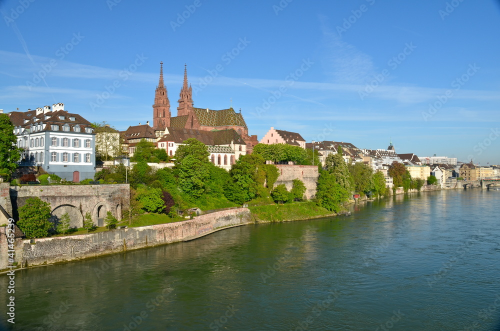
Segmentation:
<svg viewBox="0 0 500 331">
<path fill-rule="evenodd" d="M 63 103 L 7 113 L 22 148 L 19 165 L 39 165 L 48 173 L 78 182 L 95 173 L 91 123 L 68 113 Z"/>
</svg>

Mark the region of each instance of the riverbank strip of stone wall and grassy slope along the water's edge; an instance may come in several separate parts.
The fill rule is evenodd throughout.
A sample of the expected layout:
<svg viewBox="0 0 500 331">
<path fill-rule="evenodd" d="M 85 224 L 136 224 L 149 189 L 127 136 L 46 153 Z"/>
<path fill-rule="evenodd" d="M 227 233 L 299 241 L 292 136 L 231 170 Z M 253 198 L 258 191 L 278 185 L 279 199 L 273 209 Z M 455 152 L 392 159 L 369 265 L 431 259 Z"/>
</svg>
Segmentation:
<svg viewBox="0 0 500 331">
<path fill-rule="evenodd" d="M 427 189 L 423 191 L 434 191 Z M 417 192 L 416 190 L 411 190 Z M 396 195 L 405 193 L 396 191 Z M 372 200 L 372 199 L 370 199 Z M 351 200 L 347 204 L 367 201 L 366 198 Z M 37 266 L 102 256 L 117 252 L 140 249 L 192 240 L 215 231 L 248 223 L 269 223 L 306 220 L 336 216 L 312 201 L 286 204 L 270 204 L 222 210 L 196 216 L 194 219 L 73 236 L 40 238 L 31 244 L 30 240 L 15 240 L 15 260 L 19 266 Z M 4 228 L 0 228 L 4 237 Z M 6 256 L 6 242 L 0 242 L 0 254 Z M 0 260 L 0 270 L 7 268 L 7 259 Z"/>
</svg>

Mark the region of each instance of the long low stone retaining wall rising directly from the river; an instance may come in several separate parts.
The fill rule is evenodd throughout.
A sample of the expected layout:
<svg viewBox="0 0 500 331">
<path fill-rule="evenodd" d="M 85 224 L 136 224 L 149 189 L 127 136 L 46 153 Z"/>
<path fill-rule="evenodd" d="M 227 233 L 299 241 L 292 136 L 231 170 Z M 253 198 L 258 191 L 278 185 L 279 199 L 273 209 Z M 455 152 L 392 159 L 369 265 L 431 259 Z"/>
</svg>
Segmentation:
<svg viewBox="0 0 500 331">
<path fill-rule="evenodd" d="M 86 257 L 115 253 L 190 240 L 218 229 L 247 224 L 251 221 L 250 210 L 239 208 L 200 215 L 191 220 L 130 227 L 111 231 L 29 240 L 16 239 L 15 260 L 28 266 L 70 261 Z M 6 268 L 6 238 L 0 228 L 0 270 Z"/>
</svg>

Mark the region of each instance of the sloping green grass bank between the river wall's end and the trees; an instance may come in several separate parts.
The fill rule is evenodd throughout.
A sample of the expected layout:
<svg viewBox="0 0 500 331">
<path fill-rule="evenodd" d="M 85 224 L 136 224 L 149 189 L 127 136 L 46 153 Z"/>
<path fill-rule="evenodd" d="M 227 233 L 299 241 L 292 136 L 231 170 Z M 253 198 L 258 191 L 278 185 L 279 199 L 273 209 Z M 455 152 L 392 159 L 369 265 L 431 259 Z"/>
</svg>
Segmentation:
<svg viewBox="0 0 500 331">
<path fill-rule="evenodd" d="M 335 213 L 318 206 L 314 202 L 268 204 L 248 207 L 257 221 L 281 222 L 333 216 Z"/>
</svg>

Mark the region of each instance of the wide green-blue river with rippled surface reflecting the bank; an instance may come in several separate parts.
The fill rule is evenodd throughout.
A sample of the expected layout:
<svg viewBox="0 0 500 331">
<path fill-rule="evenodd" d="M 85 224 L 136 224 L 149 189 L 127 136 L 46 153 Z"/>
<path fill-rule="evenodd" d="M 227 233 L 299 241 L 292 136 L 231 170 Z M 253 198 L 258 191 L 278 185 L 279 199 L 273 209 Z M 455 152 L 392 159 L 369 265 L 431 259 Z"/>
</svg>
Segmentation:
<svg viewBox="0 0 500 331">
<path fill-rule="evenodd" d="M 397 195 L 15 273 L 13 330 L 497 330 L 500 190 Z M 8 278 L 0 276 L 2 311 Z"/>
</svg>

